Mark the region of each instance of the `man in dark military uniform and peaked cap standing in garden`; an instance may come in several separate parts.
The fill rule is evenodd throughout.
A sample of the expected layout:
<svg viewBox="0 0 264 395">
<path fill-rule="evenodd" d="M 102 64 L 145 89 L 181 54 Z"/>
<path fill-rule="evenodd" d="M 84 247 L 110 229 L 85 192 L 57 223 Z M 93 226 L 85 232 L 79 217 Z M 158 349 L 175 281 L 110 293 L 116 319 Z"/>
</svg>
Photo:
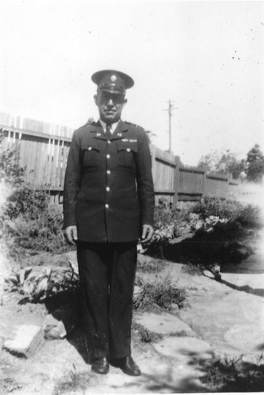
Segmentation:
<svg viewBox="0 0 264 395">
<path fill-rule="evenodd" d="M 151 156 L 141 127 L 121 120 L 132 78 L 117 70 L 92 75 L 99 121 L 75 130 L 64 189 L 64 236 L 76 244 L 92 371 L 109 361 L 140 375 L 131 357 L 137 242 L 153 235 Z"/>
</svg>

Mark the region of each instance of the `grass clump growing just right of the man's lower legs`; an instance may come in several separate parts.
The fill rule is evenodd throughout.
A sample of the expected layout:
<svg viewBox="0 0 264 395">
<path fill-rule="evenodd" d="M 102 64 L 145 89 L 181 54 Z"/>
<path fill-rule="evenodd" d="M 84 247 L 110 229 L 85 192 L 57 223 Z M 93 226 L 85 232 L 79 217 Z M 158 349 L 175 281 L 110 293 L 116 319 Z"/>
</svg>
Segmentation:
<svg viewBox="0 0 264 395">
<path fill-rule="evenodd" d="M 134 301 L 134 309 L 137 311 L 170 310 L 172 303 L 179 308 L 187 305 L 186 289 L 177 287 L 176 282 L 172 283 L 170 275 L 156 277 L 153 282 L 137 277 L 136 284 L 141 288 L 137 300 Z"/>
</svg>

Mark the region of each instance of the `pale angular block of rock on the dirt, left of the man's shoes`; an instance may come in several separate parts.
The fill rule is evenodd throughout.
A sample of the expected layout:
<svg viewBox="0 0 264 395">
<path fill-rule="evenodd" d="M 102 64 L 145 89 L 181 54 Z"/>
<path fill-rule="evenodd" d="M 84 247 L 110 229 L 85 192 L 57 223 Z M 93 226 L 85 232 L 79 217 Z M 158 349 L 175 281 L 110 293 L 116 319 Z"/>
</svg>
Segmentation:
<svg viewBox="0 0 264 395">
<path fill-rule="evenodd" d="M 44 344 L 44 332 L 37 325 L 18 325 L 13 339 L 4 342 L 4 349 L 16 356 L 28 358 Z"/>
</svg>

